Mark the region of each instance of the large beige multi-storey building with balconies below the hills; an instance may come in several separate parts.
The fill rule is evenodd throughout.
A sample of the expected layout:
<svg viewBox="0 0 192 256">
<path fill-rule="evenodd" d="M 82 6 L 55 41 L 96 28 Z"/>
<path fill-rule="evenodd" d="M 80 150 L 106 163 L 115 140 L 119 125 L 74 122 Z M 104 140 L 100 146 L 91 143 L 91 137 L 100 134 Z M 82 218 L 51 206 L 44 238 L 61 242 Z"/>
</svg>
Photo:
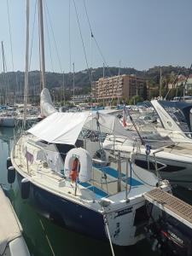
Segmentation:
<svg viewBox="0 0 192 256">
<path fill-rule="evenodd" d="M 92 95 L 96 100 L 124 98 L 130 100 L 132 96 L 143 96 L 145 80 L 136 75 L 119 75 L 102 78 L 96 81 Z"/>
</svg>

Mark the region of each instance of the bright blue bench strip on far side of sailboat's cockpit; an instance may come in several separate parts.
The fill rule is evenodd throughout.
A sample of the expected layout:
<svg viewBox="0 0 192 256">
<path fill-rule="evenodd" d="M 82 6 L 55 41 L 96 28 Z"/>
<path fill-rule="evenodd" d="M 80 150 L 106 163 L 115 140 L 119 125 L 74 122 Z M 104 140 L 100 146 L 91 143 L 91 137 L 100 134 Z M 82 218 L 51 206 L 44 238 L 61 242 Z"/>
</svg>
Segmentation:
<svg viewBox="0 0 192 256">
<path fill-rule="evenodd" d="M 118 178 L 117 170 L 113 169 L 112 167 L 109 167 L 109 166 L 102 167 L 98 164 L 95 164 L 94 167 L 96 167 L 97 169 L 99 169 L 102 172 L 107 173 L 108 175 L 110 175 L 112 177 Z M 125 177 L 125 174 L 121 173 L 121 176 Z M 131 186 L 141 186 L 141 185 L 143 185 L 143 183 L 140 183 L 137 179 L 135 179 L 133 177 L 132 178 L 128 177 L 127 181 L 124 180 L 123 182 L 127 182 L 129 185 L 131 184 Z"/>
</svg>

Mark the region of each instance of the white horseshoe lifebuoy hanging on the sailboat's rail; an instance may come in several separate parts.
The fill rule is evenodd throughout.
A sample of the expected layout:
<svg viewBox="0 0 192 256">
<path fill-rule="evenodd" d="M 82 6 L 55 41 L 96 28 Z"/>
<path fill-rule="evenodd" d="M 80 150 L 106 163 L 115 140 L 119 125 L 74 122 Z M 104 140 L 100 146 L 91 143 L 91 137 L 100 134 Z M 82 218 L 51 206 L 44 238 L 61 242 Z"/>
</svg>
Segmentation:
<svg viewBox="0 0 192 256">
<path fill-rule="evenodd" d="M 75 158 L 79 159 L 79 181 L 81 183 L 87 182 L 92 174 L 92 160 L 90 154 L 84 148 L 73 148 L 68 151 L 65 159 L 64 174 L 69 177 L 72 168 L 72 163 Z"/>
</svg>

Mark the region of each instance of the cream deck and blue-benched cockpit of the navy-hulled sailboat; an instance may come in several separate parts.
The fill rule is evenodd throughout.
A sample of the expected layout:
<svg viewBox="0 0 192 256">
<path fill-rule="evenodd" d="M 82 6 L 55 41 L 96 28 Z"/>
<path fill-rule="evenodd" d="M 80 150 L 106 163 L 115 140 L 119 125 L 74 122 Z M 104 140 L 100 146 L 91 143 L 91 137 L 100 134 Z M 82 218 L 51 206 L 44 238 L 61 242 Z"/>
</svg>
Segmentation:
<svg viewBox="0 0 192 256">
<path fill-rule="evenodd" d="M 27 154 L 25 154 L 26 137 L 22 137 L 21 139 L 22 143 L 20 143 L 20 141 L 16 143 L 15 150 L 13 151 L 12 161 L 15 164 L 15 168 L 20 170 L 21 174 L 25 173 L 25 177 L 28 177 L 32 183 L 36 183 L 40 187 L 51 188 L 55 193 L 74 195 L 75 183 L 72 183 L 70 179 L 63 176 L 63 170 L 61 170 L 63 169 L 63 163 L 57 165 L 57 160 L 60 160 L 57 156 L 59 156 L 60 153 L 56 151 L 54 147 L 50 148 L 51 145 L 45 144 L 42 149 L 35 140 L 31 141 L 28 139 Z M 20 146 L 20 144 L 22 144 L 22 146 Z M 48 146 L 49 150 L 46 149 Z M 50 160 L 46 158 L 46 153 L 53 153 L 53 155 L 56 156 L 54 159 L 50 159 L 51 165 L 49 165 Z M 57 172 L 53 169 L 54 165 L 52 160 L 55 160 L 55 166 L 61 167 L 61 169 L 57 168 Z M 121 173 L 117 171 L 118 164 L 116 162 L 111 162 L 109 166 L 93 164 L 93 172 L 90 181 L 85 183 L 78 182 L 77 195 L 82 199 L 95 200 L 102 197 L 118 195 L 119 191 L 123 192 L 128 190 L 129 197 L 135 197 L 138 195 L 142 196 L 143 193 L 151 189 L 151 186 L 155 186 L 157 181 L 156 179 L 154 180 L 152 174 L 150 174 L 150 180 L 147 180 L 147 183 L 149 183 L 149 185 L 147 185 L 143 182 L 145 177 L 142 173 L 145 171 L 142 170 L 141 172 L 140 169 L 137 170 L 138 167 L 136 169 L 132 167 L 131 173 L 130 166 L 128 166 L 126 176 L 126 162 L 123 161 L 121 164 Z M 121 177 L 121 181 L 118 183 L 119 176 Z M 138 177 L 141 177 L 141 179 Z"/>
</svg>

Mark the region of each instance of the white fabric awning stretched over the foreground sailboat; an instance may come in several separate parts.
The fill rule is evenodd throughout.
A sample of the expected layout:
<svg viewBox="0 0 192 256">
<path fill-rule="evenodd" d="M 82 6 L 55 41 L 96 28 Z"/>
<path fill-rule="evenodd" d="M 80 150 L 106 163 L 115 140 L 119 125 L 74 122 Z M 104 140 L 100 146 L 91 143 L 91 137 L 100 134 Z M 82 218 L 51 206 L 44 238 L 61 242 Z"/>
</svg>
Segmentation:
<svg viewBox="0 0 192 256">
<path fill-rule="evenodd" d="M 131 137 L 115 116 L 99 113 L 98 121 L 101 132 Z M 74 145 L 83 128 L 98 131 L 96 113 L 52 113 L 28 132 L 48 143 Z"/>
</svg>

